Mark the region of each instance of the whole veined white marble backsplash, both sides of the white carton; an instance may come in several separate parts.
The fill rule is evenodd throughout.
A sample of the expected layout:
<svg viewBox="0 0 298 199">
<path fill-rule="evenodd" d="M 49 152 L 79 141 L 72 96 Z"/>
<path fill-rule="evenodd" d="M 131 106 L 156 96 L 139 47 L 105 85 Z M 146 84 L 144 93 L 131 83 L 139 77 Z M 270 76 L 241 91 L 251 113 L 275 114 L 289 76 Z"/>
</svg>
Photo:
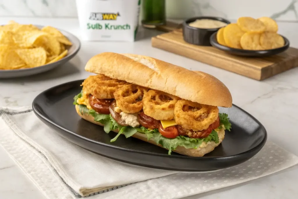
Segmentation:
<svg viewBox="0 0 298 199">
<path fill-rule="evenodd" d="M 229 19 L 270 16 L 298 21 L 298 4 L 297 0 L 166 0 L 166 13 L 167 18 L 180 19 L 202 15 Z M 77 17 L 77 10 L 75 0 L 0 0 L 0 16 Z"/>
</svg>

